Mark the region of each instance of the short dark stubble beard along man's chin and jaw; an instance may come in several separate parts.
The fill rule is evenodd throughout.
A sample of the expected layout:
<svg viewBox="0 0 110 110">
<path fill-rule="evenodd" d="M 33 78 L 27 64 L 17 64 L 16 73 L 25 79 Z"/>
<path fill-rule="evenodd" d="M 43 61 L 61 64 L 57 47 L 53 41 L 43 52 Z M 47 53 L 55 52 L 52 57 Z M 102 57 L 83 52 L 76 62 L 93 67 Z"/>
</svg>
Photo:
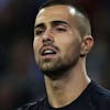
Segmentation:
<svg viewBox="0 0 110 110">
<path fill-rule="evenodd" d="M 42 61 L 40 58 L 38 67 L 44 75 L 53 79 L 59 78 L 77 64 L 80 55 L 78 52 L 76 53 L 69 52 L 68 54 L 65 54 L 64 57 L 58 56 L 57 58 L 48 61 Z"/>
</svg>

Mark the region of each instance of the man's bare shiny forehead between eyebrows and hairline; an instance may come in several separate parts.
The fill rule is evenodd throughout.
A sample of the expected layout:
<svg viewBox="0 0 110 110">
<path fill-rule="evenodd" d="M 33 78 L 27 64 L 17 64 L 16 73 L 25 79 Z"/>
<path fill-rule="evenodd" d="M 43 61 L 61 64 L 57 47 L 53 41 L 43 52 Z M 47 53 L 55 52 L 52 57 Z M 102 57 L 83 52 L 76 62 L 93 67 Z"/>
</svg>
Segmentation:
<svg viewBox="0 0 110 110">
<path fill-rule="evenodd" d="M 35 24 L 52 22 L 57 20 L 70 21 L 75 16 L 76 10 L 69 6 L 53 6 L 42 9 L 35 19 Z"/>
</svg>

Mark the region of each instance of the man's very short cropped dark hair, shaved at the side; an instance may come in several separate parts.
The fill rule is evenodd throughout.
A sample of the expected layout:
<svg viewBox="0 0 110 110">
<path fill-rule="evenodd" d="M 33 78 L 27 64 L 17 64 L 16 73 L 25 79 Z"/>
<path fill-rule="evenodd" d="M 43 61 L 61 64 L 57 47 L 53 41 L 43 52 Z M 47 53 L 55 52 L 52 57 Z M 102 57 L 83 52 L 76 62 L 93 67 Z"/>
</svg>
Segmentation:
<svg viewBox="0 0 110 110">
<path fill-rule="evenodd" d="M 46 7 L 57 6 L 57 4 L 64 4 L 69 6 L 72 8 L 75 8 L 78 13 L 81 13 L 84 15 L 84 19 L 81 18 L 78 20 L 78 30 L 80 32 L 80 35 L 87 35 L 91 34 L 91 28 L 90 28 L 90 20 L 86 12 L 86 10 L 82 8 L 81 3 L 78 2 L 79 0 L 47 0 L 44 4 L 42 4 L 38 9 L 38 11 Z"/>
</svg>

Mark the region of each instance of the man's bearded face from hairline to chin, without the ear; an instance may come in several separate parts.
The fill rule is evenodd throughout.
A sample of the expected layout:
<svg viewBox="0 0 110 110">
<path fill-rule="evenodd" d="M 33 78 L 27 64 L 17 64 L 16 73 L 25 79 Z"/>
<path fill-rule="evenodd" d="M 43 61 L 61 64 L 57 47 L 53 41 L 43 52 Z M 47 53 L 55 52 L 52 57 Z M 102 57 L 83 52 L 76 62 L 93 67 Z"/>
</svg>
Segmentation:
<svg viewBox="0 0 110 110">
<path fill-rule="evenodd" d="M 67 6 L 48 7 L 38 12 L 33 48 L 41 70 L 68 68 L 78 62 L 81 36 L 74 19 L 75 10 Z"/>
</svg>

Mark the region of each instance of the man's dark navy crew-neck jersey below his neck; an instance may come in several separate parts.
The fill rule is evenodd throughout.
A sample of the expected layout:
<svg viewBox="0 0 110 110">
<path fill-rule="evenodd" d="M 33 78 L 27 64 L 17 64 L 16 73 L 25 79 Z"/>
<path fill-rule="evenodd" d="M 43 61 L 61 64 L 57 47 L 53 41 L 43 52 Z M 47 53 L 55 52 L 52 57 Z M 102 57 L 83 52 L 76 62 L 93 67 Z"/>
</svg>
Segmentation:
<svg viewBox="0 0 110 110">
<path fill-rule="evenodd" d="M 18 110 L 110 110 L 110 91 L 91 81 L 82 94 L 68 106 L 53 108 L 47 98 L 28 103 Z"/>
</svg>

